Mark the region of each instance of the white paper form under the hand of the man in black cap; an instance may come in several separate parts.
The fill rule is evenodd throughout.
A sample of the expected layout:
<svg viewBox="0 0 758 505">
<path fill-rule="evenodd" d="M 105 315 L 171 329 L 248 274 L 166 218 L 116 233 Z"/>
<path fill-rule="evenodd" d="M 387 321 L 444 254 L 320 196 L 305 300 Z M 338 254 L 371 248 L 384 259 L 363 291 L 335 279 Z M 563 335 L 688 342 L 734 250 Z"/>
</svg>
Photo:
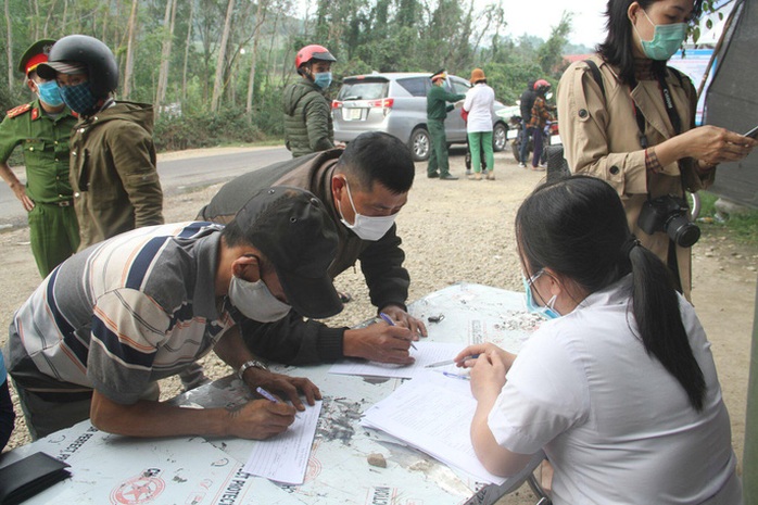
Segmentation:
<svg viewBox="0 0 758 505">
<path fill-rule="evenodd" d="M 261 440 L 244 465 L 244 471 L 286 484 L 302 484 L 316 434 L 321 402 L 299 412 L 294 422 L 273 439 Z"/>
</svg>

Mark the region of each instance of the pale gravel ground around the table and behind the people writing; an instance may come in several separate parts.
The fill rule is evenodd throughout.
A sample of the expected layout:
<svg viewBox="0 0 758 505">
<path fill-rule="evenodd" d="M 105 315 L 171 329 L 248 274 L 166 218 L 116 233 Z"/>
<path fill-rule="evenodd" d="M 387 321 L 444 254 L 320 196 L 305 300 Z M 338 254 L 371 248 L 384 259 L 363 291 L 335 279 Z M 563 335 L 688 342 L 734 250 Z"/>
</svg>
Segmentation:
<svg viewBox="0 0 758 505">
<path fill-rule="evenodd" d="M 408 203 L 396 222 L 412 279 L 409 301 L 462 281 L 522 290 L 514 218 L 520 202 L 544 180 L 545 173 L 519 168 L 509 152 L 495 154 L 495 168 L 496 180 L 466 180 L 460 150 L 453 150 L 451 156 L 451 172 L 460 177 L 457 181 L 428 179 L 426 163 L 417 164 Z M 169 194 L 165 202 L 166 220 L 191 220 L 219 186 Z M 713 255 L 713 248 L 704 252 L 706 256 Z M 750 266 L 755 264 L 754 254 L 745 262 Z M 3 265 L 0 286 L 5 287 L 0 299 L 3 317 L 0 323 L 8 327 L 13 311 L 39 282 L 26 228 L 0 233 L 0 264 Z M 359 265 L 344 272 L 334 283 L 338 290 L 351 293 L 353 301 L 345 304 L 341 314 L 328 319 L 328 324 L 351 326 L 375 315 Z M 3 331 L 0 343 L 4 344 L 5 339 Z M 204 358 L 204 367 L 213 379 L 230 371 L 214 354 Z M 162 399 L 167 399 L 180 392 L 180 384 L 178 379 L 168 379 L 162 381 L 161 389 Z M 8 449 L 29 442 L 17 404 L 16 414 L 16 428 Z M 734 421 L 733 418 L 733 425 Z M 500 503 L 534 503 L 534 500 L 525 485 Z"/>
</svg>

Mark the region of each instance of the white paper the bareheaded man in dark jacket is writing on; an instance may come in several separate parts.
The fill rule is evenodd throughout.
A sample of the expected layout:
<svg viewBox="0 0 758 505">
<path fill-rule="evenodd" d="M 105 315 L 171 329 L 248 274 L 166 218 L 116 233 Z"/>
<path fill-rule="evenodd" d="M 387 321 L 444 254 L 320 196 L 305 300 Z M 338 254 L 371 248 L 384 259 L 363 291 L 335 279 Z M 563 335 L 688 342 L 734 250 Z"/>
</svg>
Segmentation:
<svg viewBox="0 0 758 505">
<path fill-rule="evenodd" d="M 340 374 L 349 376 L 370 376 L 370 377 L 396 377 L 410 379 L 419 373 L 425 371 L 427 365 L 432 363 L 452 359 L 458 354 L 465 344 L 449 342 L 414 342 L 418 349 L 410 349 L 410 355 L 416 358 L 413 365 L 392 365 L 377 362 L 352 362 L 344 361 L 336 363 L 329 369 L 329 374 Z"/>
</svg>

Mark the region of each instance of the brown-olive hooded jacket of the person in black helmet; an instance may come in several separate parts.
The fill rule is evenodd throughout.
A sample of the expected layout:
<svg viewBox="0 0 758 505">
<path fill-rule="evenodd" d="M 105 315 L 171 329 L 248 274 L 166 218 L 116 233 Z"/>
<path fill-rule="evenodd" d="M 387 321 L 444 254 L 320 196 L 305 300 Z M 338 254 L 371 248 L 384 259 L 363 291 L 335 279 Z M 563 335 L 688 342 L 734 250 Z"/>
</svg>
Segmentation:
<svg viewBox="0 0 758 505">
<path fill-rule="evenodd" d="M 71 137 L 71 186 L 79 250 L 124 231 L 163 224 L 155 169 L 153 108 L 117 102 L 77 123 Z"/>
</svg>

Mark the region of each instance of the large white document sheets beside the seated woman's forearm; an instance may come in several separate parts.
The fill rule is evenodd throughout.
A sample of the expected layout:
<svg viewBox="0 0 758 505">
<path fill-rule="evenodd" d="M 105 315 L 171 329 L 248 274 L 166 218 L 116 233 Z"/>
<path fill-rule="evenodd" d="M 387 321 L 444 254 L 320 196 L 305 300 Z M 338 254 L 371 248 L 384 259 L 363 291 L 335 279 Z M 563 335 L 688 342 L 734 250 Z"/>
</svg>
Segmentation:
<svg viewBox="0 0 758 505">
<path fill-rule="evenodd" d="M 467 381 L 428 373 L 403 383 L 366 411 L 362 425 L 400 439 L 481 482 L 505 479 L 487 471 L 469 430 L 477 402 Z"/>
</svg>

